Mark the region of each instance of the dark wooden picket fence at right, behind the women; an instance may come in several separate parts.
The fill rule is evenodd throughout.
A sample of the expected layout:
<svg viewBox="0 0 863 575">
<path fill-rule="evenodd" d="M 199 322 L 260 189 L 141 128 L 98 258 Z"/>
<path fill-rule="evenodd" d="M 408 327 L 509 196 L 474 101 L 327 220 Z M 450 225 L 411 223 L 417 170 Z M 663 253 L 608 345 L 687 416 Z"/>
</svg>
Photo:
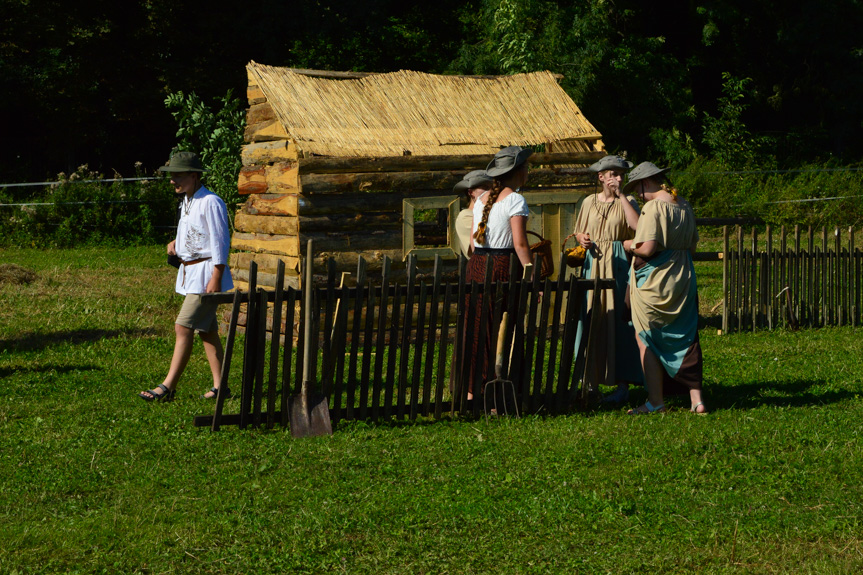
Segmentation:
<svg viewBox="0 0 863 575">
<path fill-rule="evenodd" d="M 820 236 L 820 237 L 817 237 Z M 723 228 L 723 315 L 725 333 L 776 327 L 860 325 L 861 255 L 854 229 L 816 236 L 785 226 L 774 238 L 770 226 L 759 241 L 737 226 Z"/>
</svg>

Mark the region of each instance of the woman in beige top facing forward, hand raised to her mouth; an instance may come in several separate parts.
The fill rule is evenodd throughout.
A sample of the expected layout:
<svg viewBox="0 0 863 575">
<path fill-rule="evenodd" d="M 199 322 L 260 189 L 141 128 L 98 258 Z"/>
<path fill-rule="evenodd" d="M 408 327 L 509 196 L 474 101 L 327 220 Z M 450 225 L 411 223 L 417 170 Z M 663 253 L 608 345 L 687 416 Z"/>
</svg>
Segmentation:
<svg viewBox="0 0 863 575">
<path fill-rule="evenodd" d="M 620 156 L 606 156 L 590 169 L 597 172 L 602 189 L 586 198 L 578 211 L 575 238 L 587 250 L 582 277 L 614 279 L 613 291 L 602 290 L 593 309 L 591 294 L 576 333 L 576 350 L 590 333 L 590 355 L 585 358 L 584 385 L 591 391 L 599 385 L 617 386 L 603 401 L 621 403 L 629 399 L 630 383 L 643 380 L 632 325 L 624 317 L 624 299 L 629 285 L 630 243 L 638 224 L 635 198 L 621 192 L 623 176 L 632 162 Z M 591 324 L 593 324 L 591 326 Z M 588 332 L 588 330 L 590 330 Z"/>
</svg>

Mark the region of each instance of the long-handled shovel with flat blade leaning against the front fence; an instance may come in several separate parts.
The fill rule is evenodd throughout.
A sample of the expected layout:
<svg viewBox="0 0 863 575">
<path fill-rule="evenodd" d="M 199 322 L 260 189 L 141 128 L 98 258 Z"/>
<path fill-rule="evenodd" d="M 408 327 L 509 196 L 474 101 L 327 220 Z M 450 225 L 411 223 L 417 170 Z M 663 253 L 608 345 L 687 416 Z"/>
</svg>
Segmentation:
<svg viewBox="0 0 863 575">
<path fill-rule="evenodd" d="M 317 391 L 309 389 L 309 374 L 312 369 L 312 240 L 306 248 L 306 278 L 303 292 L 306 296 L 306 315 L 303 346 L 303 386 L 300 395 L 290 398 L 288 410 L 291 417 L 291 435 L 294 437 L 314 437 L 317 435 L 332 435 L 333 424 L 330 422 L 330 408 L 327 398 Z"/>
</svg>

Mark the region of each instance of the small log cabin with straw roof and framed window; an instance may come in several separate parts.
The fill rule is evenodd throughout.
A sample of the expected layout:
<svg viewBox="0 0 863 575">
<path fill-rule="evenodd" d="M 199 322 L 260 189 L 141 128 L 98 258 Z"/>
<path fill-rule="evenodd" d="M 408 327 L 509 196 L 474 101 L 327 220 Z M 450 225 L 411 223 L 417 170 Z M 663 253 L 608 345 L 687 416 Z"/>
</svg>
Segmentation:
<svg viewBox="0 0 863 575">
<path fill-rule="evenodd" d="M 513 76 L 358 73 L 250 62 L 246 145 L 230 265 L 238 289 L 299 286 L 300 254 L 314 239 L 315 265 L 419 267 L 440 255 L 456 269 L 452 229 L 463 198 L 452 188 L 499 149 L 531 146 L 522 193 L 528 229 L 556 248 L 581 200 L 595 189 L 586 166 L 605 155 L 601 134 L 550 72 Z M 321 269 L 321 268 L 318 268 Z M 559 271 L 559 270 L 558 270 Z M 556 272 L 557 273 L 557 272 Z"/>
</svg>

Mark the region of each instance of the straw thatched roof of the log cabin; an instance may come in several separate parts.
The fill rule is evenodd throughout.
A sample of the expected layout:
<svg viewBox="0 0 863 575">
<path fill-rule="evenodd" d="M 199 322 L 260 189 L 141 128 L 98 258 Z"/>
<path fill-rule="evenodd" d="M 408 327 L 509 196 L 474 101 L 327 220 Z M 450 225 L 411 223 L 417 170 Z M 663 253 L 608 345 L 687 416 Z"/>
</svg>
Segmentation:
<svg viewBox="0 0 863 575">
<path fill-rule="evenodd" d="M 255 62 L 247 69 L 305 154 L 486 154 L 558 142 L 559 149 L 593 150 L 602 137 L 549 72 L 476 77 L 402 70 L 336 79 Z"/>
</svg>

